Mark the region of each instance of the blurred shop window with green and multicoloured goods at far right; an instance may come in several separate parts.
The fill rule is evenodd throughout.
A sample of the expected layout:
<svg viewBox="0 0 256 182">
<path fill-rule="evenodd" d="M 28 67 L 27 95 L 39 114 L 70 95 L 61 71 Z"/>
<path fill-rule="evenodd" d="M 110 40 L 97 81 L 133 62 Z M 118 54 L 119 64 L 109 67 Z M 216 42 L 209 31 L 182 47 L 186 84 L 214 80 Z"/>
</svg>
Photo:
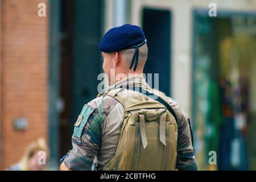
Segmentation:
<svg viewBox="0 0 256 182">
<path fill-rule="evenodd" d="M 256 14 L 195 11 L 193 121 L 201 169 L 255 169 Z M 209 152 L 216 151 L 217 165 Z"/>
</svg>

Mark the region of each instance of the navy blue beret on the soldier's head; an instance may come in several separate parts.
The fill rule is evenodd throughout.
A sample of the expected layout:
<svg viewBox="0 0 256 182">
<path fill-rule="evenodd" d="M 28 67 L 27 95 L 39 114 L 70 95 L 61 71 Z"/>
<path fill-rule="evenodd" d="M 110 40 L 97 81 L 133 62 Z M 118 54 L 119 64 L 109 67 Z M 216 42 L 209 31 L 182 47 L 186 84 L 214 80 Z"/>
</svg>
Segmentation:
<svg viewBox="0 0 256 182">
<path fill-rule="evenodd" d="M 124 24 L 120 27 L 110 29 L 101 40 L 100 50 L 102 52 L 115 52 L 133 46 L 141 46 L 146 42 L 141 27 Z"/>
</svg>

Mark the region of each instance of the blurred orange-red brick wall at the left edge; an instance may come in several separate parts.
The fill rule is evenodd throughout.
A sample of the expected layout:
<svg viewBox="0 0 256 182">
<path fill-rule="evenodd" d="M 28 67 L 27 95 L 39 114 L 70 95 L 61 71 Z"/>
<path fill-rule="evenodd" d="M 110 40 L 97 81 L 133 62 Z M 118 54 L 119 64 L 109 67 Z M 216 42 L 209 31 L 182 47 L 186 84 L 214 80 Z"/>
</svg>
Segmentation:
<svg viewBox="0 0 256 182">
<path fill-rule="evenodd" d="M 47 139 L 48 13 L 38 16 L 47 0 L 2 0 L 1 169 L 18 162 L 32 141 Z M 28 129 L 15 131 L 15 118 Z"/>
</svg>

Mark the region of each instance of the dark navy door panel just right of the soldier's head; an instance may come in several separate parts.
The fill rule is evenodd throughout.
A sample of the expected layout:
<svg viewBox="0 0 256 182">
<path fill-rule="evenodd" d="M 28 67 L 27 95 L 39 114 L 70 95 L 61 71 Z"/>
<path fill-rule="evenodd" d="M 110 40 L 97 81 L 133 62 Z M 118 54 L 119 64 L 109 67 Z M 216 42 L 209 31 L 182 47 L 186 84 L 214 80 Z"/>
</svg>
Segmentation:
<svg viewBox="0 0 256 182">
<path fill-rule="evenodd" d="M 171 95 L 171 11 L 143 9 L 143 31 L 148 57 L 144 73 L 159 74 L 159 90 Z M 154 79 L 154 76 L 152 76 Z M 152 80 L 154 84 L 154 80 Z M 155 85 L 150 85 L 153 88 Z"/>
</svg>

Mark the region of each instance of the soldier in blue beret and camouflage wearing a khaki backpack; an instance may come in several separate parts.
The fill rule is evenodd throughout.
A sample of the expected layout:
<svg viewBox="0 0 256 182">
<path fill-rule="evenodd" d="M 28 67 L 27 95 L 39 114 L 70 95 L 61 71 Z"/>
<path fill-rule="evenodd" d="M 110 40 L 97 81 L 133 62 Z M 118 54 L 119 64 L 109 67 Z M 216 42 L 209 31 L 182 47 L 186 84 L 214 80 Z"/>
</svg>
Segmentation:
<svg viewBox="0 0 256 182">
<path fill-rule="evenodd" d="M 60 170 L 197 170 L 189 118 L 142 76 L 148 50 L 141 28 L 110 29 L 100 50 L 110 86 L 84 105 Z"/>
</svg>

